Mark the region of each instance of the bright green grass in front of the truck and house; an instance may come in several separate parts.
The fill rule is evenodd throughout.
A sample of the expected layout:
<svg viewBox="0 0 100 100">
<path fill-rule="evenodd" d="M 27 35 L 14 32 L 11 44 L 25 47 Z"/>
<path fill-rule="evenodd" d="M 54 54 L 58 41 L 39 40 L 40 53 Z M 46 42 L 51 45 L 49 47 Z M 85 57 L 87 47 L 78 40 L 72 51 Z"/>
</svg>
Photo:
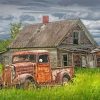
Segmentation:
<svg viewBox="0 0 100 100">
<path fill-rule="evenodd" d="M 0 100 L 100 100 L 100 69 L 76 69 L 67 86 L 0 90 Z"/>
</svg>

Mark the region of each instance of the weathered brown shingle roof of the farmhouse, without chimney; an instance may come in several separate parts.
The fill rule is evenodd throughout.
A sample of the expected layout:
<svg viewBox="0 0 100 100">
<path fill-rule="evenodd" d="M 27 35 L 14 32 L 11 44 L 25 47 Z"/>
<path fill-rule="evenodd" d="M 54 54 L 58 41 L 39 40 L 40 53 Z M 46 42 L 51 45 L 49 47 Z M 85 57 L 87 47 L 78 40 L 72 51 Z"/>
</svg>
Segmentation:
<svg viewBox="0 0 100 100">
<path fill-rule="evenodd" d="M 18 34 L 9 48 L 56 47 L 64 36 L 79 22 L 82 23 L 80 20 L 63 20 L 46 24 L 28 25 Z M 92 37 L 90 35 L 87 36 L 95 44 Z"/>
</svg>

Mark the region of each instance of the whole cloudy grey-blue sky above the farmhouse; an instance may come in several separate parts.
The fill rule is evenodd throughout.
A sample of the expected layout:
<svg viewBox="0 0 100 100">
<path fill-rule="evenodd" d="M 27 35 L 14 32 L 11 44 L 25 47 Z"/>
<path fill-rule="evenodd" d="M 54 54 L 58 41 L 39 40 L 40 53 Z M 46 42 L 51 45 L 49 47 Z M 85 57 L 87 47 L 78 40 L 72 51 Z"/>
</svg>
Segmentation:
<svg viewBox="0 0 100 100">
<path fill-rule="evenodd" d="M 81 19 L 100 45 L 100 0 L 0 0 L 0 39 L 10 37 L 10 23 L 23 25 L 50 21 Z"/>
</svg>

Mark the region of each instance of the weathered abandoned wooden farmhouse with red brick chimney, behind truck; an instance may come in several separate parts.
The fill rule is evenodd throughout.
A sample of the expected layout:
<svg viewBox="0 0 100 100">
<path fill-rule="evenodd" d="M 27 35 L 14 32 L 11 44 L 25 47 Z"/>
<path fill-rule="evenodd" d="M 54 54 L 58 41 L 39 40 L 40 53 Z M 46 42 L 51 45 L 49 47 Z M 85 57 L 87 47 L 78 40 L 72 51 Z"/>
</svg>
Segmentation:
<svg viewBox="0 0 100 100">
<path fill-rule="evenodd" d="M 21 50 L 48 50 L 50 64 L 55 67 L 95 67 L 96 55 L 91 51 L 97 44 L 81 20 L 49 22 L 25 26 L 4 54 L 5 62 L 11 63 L 11 55 Z M 9 60 L 8 60 L 9 59 Z"/>
</svg>

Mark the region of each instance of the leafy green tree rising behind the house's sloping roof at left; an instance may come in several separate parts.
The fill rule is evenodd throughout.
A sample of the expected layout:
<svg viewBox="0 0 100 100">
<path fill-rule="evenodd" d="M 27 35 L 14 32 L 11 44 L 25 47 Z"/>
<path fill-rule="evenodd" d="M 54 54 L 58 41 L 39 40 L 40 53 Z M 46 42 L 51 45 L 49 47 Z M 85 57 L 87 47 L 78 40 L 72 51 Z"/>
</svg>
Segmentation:
<svg viewBox="0 0 100 100">
<path fill-rule="evenodd" d="M 11 23 L 10 24 L 10 34 L 11 34 L 11 39 L 14 39 L 16 35 L 21 31 L 21 23 Z"/>
</svg>

